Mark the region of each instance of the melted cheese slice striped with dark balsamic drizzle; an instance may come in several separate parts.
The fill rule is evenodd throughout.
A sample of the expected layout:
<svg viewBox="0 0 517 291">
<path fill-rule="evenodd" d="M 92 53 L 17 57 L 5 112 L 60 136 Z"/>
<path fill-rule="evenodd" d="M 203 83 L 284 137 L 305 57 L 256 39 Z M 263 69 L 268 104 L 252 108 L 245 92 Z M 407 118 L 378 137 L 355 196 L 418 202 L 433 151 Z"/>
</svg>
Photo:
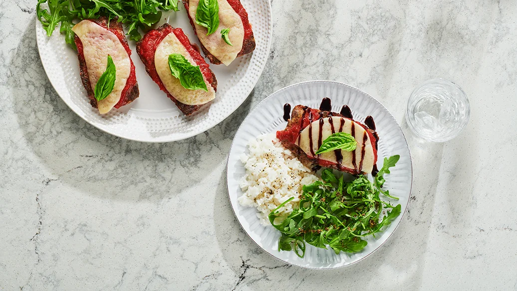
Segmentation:
<svg viewBox="0 0 517 291">
<path fill-rule="evenodd" d="M 332 125 L 334 128 L 333 131 Z M 350 119 L 342 118 L 339 116 L 327 117 L 323 118 L 322 126 L 320 126 L 320 120 L 313 121 L 310 126 L 304 128 L 301 131 L 296 145 L 298 145 L 307 154 L 307 156 L 314 157 L 312 153 L 316 152 L 321 146 L 321 144 L 319 144 L 320 134 L 321 141 L 323 143 L 323 141 L 325 141 L 325 139 L 329 137 L 332 133 L 346 132 L 352 134 L 352 126 L 354 127 L 353 135 L 355 135 L 357 147 L 354 151 L 341 150 L 341 155 L 343 156 L 341 165 L 349 169 L 357 169 L 362 172 L 371 173 L 373 169 L 373 161 L 375 159 L 375 156 L 373 153 L 373 146 L 370 140 L 370 135 L 362 126 L 358 125 L 356 122 Z M 362 154 L 362 152 L 364 152 L 364 155 Z M 355 155 L 355 166 L 353 155 Z M 323 154 L 318 155 L 317 158 L 339 164 L 335 151 L 324 152 Z M 360 167 L 361 159 L 362 169 Z"/>
</svg>

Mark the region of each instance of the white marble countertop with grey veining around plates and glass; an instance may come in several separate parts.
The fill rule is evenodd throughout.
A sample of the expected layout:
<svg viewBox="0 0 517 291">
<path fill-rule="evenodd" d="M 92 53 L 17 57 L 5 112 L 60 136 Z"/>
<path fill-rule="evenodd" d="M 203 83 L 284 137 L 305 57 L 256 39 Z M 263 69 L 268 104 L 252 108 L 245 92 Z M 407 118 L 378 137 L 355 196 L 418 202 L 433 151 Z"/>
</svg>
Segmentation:
<svg viewBox="0 0 517 291">
<path fill-rule="evenodd" d="M 0 3 L 0 290 L 517 290 L 516 2 L 272 0 L 271 53 L 250 97 L 166 144 L 119 139 L 67 108 L 39 60 L 36 2 Z M 413 194 L 385 246 L 313 271 L 241 230 L 224 168 L 255 104 L 335 80 L 403 124 L 412 89 L 436 77 L 463 87 L 470 122 L 444 144 L 409 136 Z"/>
</svg>

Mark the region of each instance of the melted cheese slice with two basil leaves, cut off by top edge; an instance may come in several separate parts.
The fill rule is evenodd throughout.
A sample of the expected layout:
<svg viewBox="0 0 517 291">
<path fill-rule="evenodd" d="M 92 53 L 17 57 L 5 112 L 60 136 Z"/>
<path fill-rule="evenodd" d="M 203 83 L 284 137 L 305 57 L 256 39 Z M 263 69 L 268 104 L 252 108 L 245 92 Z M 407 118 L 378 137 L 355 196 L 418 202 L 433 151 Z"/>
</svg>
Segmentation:
<svg viewBox="0 0 517 291">
<path fill-rule="evenodd" d="M 233 10 L 232 6 L 226 0 L 218 0 L 219 4 L 219 27 L 216 32 L 206 35 L 208 29 L 195 22 L 195 12 L 199 0 L 189 0 L 189 15 L 194 22 L 197 37 L 203 43 L 205 48 L 224 65 L 228 66 L 237 57 L 242 50 L 242 42 L 244 42 L 244 25 L 239 14 Z M 230 28 L 228 37 L 233 44 L 227 44 L 221 37 L 221 30 Z"/>
</svg>

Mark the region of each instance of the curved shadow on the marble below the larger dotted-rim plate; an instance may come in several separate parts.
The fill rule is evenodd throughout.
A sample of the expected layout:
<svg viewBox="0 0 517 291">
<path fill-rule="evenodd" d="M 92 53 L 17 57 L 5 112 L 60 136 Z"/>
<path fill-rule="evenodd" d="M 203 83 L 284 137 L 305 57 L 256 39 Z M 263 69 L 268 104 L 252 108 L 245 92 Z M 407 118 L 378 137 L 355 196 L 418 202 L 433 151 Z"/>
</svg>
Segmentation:
<svg viewBox="0 0 517 291">
<path fill-rule="evenodd" d="M 221 124 L 187 140 L 149 144 L 121 139 L 87 124 L 59 98 L 39 59 L 30 28 L 35 21 L 9 64 L 7 85 L 23 138 L 47 168 L 38 176 L 42 186 L 58 181 L 103 199 L 157 201 L 205 177 L 211 169 L 203 161 L 223 162 L 227 148 L 220 148 L 221 141 L 231 141 L 254 91 Z"/>
</svg>

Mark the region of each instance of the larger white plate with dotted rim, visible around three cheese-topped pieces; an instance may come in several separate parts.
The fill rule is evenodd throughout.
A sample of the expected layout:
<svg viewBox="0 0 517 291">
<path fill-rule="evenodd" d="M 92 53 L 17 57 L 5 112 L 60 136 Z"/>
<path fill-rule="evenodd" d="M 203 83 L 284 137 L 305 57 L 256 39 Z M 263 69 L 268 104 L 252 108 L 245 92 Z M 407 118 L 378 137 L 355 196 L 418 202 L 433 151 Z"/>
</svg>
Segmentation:
<svg viewBox="0 0 517 291">
<path fill-rule="evenodd" d="M 136 81 L 140 97 L 132 103 L 100 115 L 92 108 L 79 76 L 77 53 L 65 43 L 59 27 L 47 37 L 36 21 L 36 37 L 41 63 L 57 94 L 89 124 L 110 134 L 141 142 L 170 142 L 204 132 L 232 114 L 249 96 L 269 56 L 272 34 L 271 5 L 269 0 L 241 0 L 253 28 L 256 48 L 252 54 L 238 57 L 226 67 L 208 62 L 217 78 L 216 99 L 189 117 L 158 88 L 145 71 L 135 50 L 135 42 L 128 41 L 131 59 L 136 67 Z M 190 42 L 199 45 L 181 2 L 179 11 L 166 12 L 159 25 L 168 22 L 183 29 Z M 201 53 L 203 55 L 203 53 Z M 204 56 L 204 55 L 203 55 Z"/>
</svg>

